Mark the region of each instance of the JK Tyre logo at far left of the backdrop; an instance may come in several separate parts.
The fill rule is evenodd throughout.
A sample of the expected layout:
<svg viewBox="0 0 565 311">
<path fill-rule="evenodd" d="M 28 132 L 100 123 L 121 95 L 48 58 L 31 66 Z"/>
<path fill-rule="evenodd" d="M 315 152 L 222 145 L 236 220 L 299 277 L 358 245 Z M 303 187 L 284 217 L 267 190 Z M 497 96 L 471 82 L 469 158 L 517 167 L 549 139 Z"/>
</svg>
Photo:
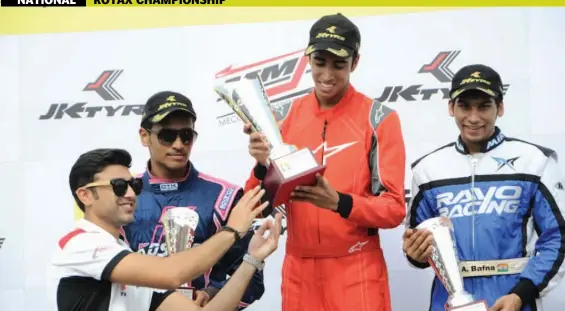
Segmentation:
<svg viewBox="0 0 565 311">
<path fill-rule="evenodd" d="M 124 97 L 115 88 L 114 84 L 124 72 L 123 69 L 104 70 L 93 82 L 88 82 L 82 89 L 84 92 L 97 94 L 107 105 L 100 105 L 100 100 L 94 102 L 79 101 L 54 103 L 47 112 L 39 116 L 39 120 L 59 119 L 88 119 L 96 117 L 117 117 L 137 115 L 141 116 L 143 105 L 115 104 L 124 100 Z M 92 81 L 92 80 L 91 80 Z"/>
</svg>

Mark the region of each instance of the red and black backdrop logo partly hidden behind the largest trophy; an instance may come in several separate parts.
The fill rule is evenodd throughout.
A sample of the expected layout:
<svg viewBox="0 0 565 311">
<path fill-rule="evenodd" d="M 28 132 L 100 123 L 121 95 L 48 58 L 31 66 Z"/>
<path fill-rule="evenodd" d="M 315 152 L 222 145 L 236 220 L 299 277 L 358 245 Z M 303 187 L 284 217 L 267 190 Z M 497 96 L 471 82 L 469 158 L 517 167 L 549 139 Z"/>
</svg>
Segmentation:
<svg viewBox="0 0 565 311">
<path fill-rule="evenodd" d="M 281 120 L 288 113 L 295 98 L 312 90 L 308 73 L 308 58 L 304 56 L 304 50 L 299 50 L 248 65 L 229 65 L 216 74 L 216 79 L 229 84 L 241 79 L 261 77 L 275 117 Z M 220 127 L 241 121 L 220 98 L 217 102 L 226 107 L 226 113 L 216 117 Z"/>
</svg>

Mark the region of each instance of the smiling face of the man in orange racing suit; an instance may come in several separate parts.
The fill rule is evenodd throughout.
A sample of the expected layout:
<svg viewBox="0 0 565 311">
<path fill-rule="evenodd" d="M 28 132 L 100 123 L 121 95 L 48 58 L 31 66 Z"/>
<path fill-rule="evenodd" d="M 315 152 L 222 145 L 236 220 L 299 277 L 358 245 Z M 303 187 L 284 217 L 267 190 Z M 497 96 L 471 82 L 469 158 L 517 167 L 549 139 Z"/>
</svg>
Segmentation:
<svg viewBox="0 0 565 311">
<path fill-rule="evenodd" d="M 341 58 L 327 51 L 310 54 L 310 67 L 314 79 L 316 96 L 324 103 L 337 103 L 346 91 L 349 76 L 355 68 L 359 57 Z"/>
</svg>

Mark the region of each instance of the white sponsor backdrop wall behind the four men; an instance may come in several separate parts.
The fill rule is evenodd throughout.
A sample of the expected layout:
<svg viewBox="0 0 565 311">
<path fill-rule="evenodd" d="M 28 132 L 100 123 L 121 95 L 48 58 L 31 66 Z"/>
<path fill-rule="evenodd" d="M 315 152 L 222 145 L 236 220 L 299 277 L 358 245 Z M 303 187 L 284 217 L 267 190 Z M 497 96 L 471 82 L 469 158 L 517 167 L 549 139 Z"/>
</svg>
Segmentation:
<svg viewBox="0 0 565 311">
<path fill-rule="evenodd" d="M 565 9 L 353 19 L 363 40 L 352 82 L 399 111 L 407 167 L 456 137 L 446 92 L 454 72 L 469 63 L 487 63 L 502 74 L 507 109 L 499 123 L 508 135 L 565 154 L 558 119 L 564 112 L 558 83 L 565 72 Z M 200 136 L 192 161 L 243 184 L 253 161 L 242 124 L 218 101 L 214 81 L 259 75 L 277 116 L 284 116 L 292 99 L 312 87 L 302 49 L 313 21 L 0 37 L 0 309 L 48 310 L 51 251 L 80 216 L 68 190 L 70 166 L 88 149 L 121 147 L 133 153 L 133 171 L 143 171 L 148 153 L 137 129 L 141 105 L 153 93 L 175 90 L 193 100 Z M 406 264 L 402 231 L 381 230 L 393 310 L 426 310 L 432 272 Z M 249 310 L 280 309 L 284 239 L 267 263 L 266 293 Z M 548 296 L 546 310 L 560 309 L 563 290 Z"/>
</svg>

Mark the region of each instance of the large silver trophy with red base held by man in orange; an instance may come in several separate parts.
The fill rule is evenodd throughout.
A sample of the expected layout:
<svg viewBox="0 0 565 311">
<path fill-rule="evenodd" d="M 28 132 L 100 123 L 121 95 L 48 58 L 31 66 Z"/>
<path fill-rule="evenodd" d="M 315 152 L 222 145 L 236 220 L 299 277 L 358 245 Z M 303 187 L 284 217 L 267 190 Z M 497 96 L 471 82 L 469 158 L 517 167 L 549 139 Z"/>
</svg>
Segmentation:
<svg viewBox="0 0 565 311">
<path fill-rule="evenodd" d="M 261 79 L 242 79 L 230 85 L 235 86 L 219 84 L 214 90 L 243 122 L 251 124 L 252 131 L 262 133 L 269 144 L 263 185 L 272 195 L 271 204 L 287 203 L 296 186 L 316 184 L 316 174 L 322 175 L 326 166 L 318 164 L 310 149 L 298 149 L 283 142 Z"/>
</svg>

